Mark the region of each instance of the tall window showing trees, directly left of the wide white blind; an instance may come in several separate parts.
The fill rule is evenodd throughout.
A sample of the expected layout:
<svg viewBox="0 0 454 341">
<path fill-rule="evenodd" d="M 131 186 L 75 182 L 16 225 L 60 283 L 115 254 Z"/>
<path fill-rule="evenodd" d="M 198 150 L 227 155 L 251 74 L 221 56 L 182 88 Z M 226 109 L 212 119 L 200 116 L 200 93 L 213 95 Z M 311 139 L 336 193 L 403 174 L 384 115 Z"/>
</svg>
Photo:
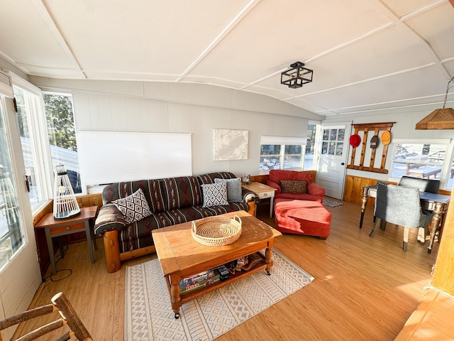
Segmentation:
<svg viewBox="0 0 454 341">
<path fill-rule="evenodd" d="M 76 129 L 70 94 L 43 94 L 52 169 L 65 166 L 74 193 L 82 193 L 77 156 Z"/>
</svg>

